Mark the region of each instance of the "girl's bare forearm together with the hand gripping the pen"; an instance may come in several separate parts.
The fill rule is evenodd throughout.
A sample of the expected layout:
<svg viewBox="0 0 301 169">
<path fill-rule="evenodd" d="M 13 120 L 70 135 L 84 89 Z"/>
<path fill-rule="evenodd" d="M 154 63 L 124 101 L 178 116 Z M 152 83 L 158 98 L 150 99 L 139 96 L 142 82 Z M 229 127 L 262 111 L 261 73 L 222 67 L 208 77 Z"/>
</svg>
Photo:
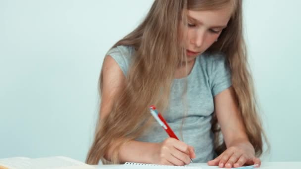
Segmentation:
<svg viewBox="0 0 301 169">
<path fill-rule="evenodd" d="M 119 151 L 121 163 L 184 166 L 190 164 L 190 158 L 195 158 L 193 147 L 175 138 L 167 138 L 161 143 L 132 140 L 124 144 Z"/>
</svg>

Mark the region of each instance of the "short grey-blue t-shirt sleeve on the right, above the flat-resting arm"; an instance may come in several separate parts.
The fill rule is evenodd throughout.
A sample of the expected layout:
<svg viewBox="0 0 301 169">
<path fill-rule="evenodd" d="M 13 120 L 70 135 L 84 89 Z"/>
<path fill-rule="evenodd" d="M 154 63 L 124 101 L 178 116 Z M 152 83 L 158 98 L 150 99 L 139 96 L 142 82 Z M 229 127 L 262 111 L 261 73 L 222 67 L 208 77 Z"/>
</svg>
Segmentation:
<svg viewBox="0 0 301 169">
<path fill-rule="evenodd" d="M 211 59 L 210 79 L 211 79 L 211 92 L 215 96 L 223 90 L 229 88 L 231 83 L 230 69 L 226 64 L 224 55 L 209 56 Z"/>
</svg>

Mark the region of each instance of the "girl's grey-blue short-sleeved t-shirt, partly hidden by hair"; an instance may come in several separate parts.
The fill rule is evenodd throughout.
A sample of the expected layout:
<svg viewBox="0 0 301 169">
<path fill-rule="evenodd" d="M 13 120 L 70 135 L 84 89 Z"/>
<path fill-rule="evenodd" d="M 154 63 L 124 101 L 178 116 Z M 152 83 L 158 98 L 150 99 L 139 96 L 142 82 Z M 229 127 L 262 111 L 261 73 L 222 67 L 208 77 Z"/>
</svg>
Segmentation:
<svg viewBox="0 0 301 169">
<path fill-rule="evenodd" d="M 132 46 L 120 45 L 110 49 L 107 55 L 117 62 L 126 75 L 134 51 Z M 205 163 L 213 159 L 213 133 L 210 123 L 214 112 L 213 97 L 231 86 L 230 76 L 223 55 L 203 53 L 197 57 L 191 73 L 186 77 L 187 81 L 185 78 L 173 81 L 169 106 L 163 116 L 179 139 L 195 148 L 195 163 Z M 187 95 L 183 102 L 186 82 Z M 183 138 L 180 134 L 181 128 Z M 151 130 L 137 140 L 162 142 L 168 137 L 164 129 L 154 123 Z"/>
</svg>

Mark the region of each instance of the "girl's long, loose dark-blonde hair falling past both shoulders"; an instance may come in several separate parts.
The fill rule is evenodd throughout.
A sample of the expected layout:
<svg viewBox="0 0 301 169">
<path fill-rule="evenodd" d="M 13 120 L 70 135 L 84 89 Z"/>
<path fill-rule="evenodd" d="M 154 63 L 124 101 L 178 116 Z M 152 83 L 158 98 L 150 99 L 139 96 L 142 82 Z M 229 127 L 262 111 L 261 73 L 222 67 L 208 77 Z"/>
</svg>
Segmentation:
<svg viewBox="0 0 301 169">
<path fill-rule="evenodd" d="M 184 42 L 179 37 L 180 25 L 187 25 L 186 11 L 215 10 L 229 4 L 233 7 L 233 14 L 228 26 L 222 31 L 218 42 L 212 44 L 206 52 L 222 52 L 225 55 L 249 140 L 256 155 L 262 153 L 262 136 L 265 135 L 257 114 L 243 39 L 242 0 L 155 0 L 145 20 L 113 45 L 131 45 L 135 52 L 125 89 L 115 98 L 107 117 L 98 120 L 86 163 L 98 164 L 100 160 L 106 162 L 104 155 L 112 143 L 113 153 L 109 160 L 114 164 L 119 163 L 120 146 L 139 137 L 151 125 L 148 107 L 155 104 L 159 110 L 166 109 L 175 69 L 186 57 Z M 101 96 L 102 71 L 99 82 Z M 215 134 L 215 150 L 221 153 L 226 147 L 223 140 L 218 140 L 220 128 L 215 116 L 212 131 Z"/>
</svg>

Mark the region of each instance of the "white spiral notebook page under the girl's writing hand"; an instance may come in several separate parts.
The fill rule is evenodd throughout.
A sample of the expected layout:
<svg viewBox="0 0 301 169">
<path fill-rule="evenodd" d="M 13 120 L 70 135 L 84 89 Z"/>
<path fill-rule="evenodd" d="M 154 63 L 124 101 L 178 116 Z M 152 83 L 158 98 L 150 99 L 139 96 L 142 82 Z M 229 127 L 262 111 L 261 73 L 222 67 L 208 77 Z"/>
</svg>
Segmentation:
<svg viewBox="0 0 301 169">
<path fill-rule="evenodd" d="M 201 169 L 201 167 L 190 166 L 166 166 L 166 165 L 153 165 L 144 163 L 125 163 L 122 169 Z"/>
</svg>

